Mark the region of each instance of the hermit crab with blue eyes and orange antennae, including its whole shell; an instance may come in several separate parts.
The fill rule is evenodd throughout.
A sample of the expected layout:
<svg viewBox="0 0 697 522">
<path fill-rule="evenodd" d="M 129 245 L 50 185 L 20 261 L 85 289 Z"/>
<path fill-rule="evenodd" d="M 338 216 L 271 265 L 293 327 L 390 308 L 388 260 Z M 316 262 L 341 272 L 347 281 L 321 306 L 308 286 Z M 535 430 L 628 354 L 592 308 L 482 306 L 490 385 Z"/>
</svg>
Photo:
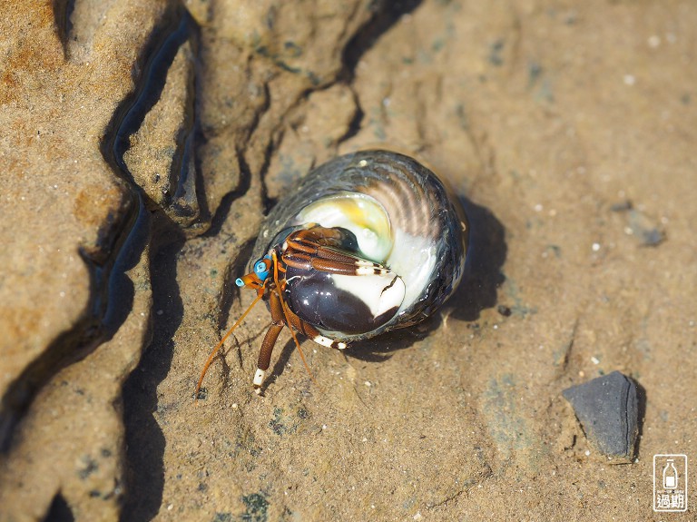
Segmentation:
<svg viewBox="0 0 697 522">
<path fill-rule="evenodd" d="M 265 300 L 271 325 L 261 343 L 257 393 L 280 331 L 322 346 L 348 343 L 426 319 L 455 291 L 469 226 L 459 202 L 416 160 L 382 150 L 340 156 L 299 182 L 271 210 L 236 284 Z M 306 363 L 307 366 L 307 363 Z"/>
</svg>

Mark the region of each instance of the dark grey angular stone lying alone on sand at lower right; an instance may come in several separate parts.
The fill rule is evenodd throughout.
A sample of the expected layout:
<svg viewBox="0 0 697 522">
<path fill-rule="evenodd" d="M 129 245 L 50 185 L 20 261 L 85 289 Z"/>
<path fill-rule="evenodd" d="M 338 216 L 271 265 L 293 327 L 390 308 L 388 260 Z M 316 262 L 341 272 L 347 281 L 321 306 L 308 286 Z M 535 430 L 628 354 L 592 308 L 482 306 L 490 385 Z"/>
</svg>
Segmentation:
<svg viewBox="0 0 697 522">
<path fill-rule="evenodd" d="M 631 462 L 639 433 L 636 385 L 619 371 L 564 389 L 585 436 L 615 463 Z"/>
</svg>

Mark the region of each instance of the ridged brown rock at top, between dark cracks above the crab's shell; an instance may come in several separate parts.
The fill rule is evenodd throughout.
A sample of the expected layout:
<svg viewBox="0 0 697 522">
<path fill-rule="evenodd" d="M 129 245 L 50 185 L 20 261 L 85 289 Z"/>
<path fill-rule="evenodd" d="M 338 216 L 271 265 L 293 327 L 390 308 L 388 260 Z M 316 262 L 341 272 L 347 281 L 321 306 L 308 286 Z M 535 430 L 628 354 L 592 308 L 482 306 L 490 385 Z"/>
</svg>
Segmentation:
<svg viewBox="0 0 697 522">
<path fill-rule="evenodd" d="M 290 132 L 308 95 L 337 80 L 342 52 L 372 6 L 368 0 L 313 1 L 301 9 L 274 0 L 191 6 L 201 29 L 196 156 L 204 221 L 226 194 L 246 189 L 250 176 L 269 168 L 270 147 Z"/>
</svg>

